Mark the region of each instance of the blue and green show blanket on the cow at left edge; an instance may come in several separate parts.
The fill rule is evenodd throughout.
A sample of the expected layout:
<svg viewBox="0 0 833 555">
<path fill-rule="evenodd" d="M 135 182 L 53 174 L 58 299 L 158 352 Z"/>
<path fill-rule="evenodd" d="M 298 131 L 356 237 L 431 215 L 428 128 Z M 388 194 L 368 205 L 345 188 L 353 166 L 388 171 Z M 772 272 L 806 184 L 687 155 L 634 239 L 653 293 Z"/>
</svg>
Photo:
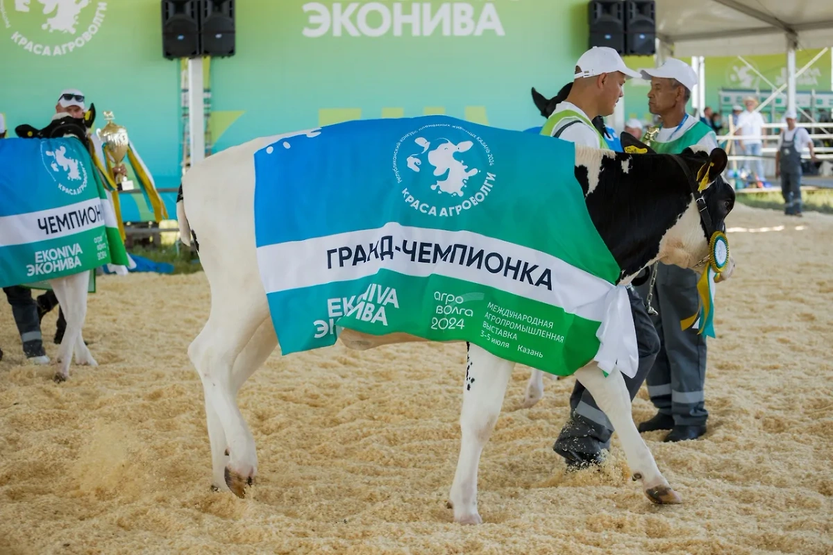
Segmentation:
<svg viewBox="0 0 833 555">
<path fill-rule="evenodd" d="M 73 137 L 0 140 L 0 286 L 127 265 L 112 205 Z"/>
</svg>

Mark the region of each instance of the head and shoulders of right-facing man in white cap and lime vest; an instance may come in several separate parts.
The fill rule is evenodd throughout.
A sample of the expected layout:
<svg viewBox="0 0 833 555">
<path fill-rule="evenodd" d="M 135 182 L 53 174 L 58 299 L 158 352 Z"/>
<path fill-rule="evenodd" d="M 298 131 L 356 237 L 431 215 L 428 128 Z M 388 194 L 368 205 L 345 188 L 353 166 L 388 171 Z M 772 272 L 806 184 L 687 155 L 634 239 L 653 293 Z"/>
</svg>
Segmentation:
<svg viewBox="0 0 833 555">
<path fill-rule="evenodd" d="M 558 103 L 541 128 L 541 135 L 608 149 L 605 138 L 591 121 L 613 113 L 616 102 L 625 95 L 622 85 L 628 77 L 640 75 L 626 67 L 616 50 L 592 47 L 576 62 L 570 94 Z"/>
</svg>

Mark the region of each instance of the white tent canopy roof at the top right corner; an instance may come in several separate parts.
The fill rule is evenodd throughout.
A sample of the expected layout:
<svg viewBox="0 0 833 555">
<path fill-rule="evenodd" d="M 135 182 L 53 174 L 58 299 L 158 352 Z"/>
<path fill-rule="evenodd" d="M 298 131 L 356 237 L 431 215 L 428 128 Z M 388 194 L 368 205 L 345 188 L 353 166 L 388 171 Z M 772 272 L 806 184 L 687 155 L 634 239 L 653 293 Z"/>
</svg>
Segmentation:
<svg viewBox="0 0 833 555">
<path fill-rule="evenodd" d="M 833 0 L 656 0 L 656 34 L 679 58 L 830 47 Z"/>
</svg>

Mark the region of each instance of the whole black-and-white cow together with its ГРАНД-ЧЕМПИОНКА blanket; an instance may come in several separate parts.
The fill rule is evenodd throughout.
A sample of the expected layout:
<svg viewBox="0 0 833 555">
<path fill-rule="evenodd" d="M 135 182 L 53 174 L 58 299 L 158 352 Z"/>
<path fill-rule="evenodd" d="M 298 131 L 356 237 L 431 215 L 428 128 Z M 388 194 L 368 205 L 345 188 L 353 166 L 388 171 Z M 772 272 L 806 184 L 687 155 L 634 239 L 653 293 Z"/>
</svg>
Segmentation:
<svg viewBox="0 0 833 555">
<path fill-rule="evenodd" d="M 212 294 L 188 349 L 212 487 L 243 497 L 257 474 L 237 391 L 279 340 L 284 355 L 466 341 L 456 522 L 481 522 L 480 455 L 518 362 L 575 374 L 647 497 L 680 503 L 631 419 L 624 288 L 656 260 L 706 260 L 734 205 L 725 166 L 721 149 L 616 153 L 447 116 L 263 137 L 193 166 L 177 217 Z"/>
</svg>

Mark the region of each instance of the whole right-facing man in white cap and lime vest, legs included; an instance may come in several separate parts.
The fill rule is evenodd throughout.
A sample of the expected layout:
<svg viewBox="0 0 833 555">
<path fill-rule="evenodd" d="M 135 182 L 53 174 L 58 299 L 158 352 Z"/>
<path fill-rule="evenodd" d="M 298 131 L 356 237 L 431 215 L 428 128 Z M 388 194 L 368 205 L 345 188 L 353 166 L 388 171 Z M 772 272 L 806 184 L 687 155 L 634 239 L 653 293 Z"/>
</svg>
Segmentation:
<svg viewBox="0 0 833 555">
<path fill-rule="evenodd" d="M 613 113 L 616 102 L 624 96 L 622 85 L 628 77 L 640 77 L 640 74 L 626 67 L 616 50 L 592 47 L 576 62 L 570 92 L 564 101 L 556 105 L 541 129 L 541 135 L 610 150 L 599 126 L 593 125 L 592 120 Z M 623 377 L 633 399 L 653 366 L 660 340 L 636 290 L 628 287 L 627 291 L 636 330 L 639 367 L 633 378 Z M 540 374 L 540 371 L 536 372 Z M 533 374 L 531 383 L 535 378 Z M 538 378 L 540 381 L 540 375 Z M 570 396 L 570 409 L 570 418 L 561 428 L 552 448 L 565 459 L 568 471 L 596 467 L 604 461 L 604 450 L 610 449 L 613 425 L 578 380 Z"/>
</svg>

